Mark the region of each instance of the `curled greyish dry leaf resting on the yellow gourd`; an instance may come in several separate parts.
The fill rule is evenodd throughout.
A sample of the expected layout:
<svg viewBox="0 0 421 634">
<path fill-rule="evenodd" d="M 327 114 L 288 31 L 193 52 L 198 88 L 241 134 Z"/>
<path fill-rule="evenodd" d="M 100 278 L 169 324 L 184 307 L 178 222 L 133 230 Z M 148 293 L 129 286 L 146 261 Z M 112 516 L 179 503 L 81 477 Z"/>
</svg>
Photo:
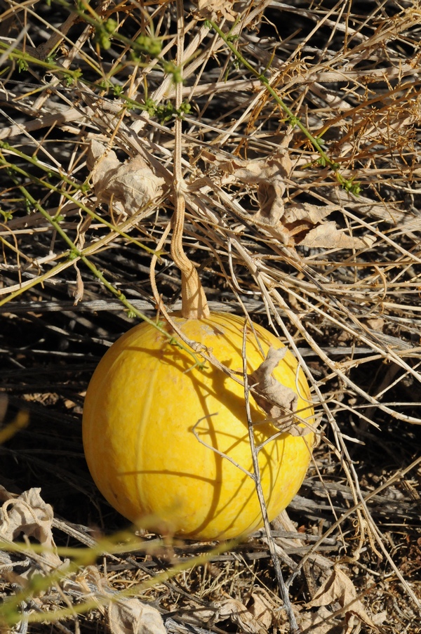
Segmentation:
<svg viewBox="0 0 421 634">
<path fill-rule="evenodd" d="M 248 375 L 250 390 L 255 402 L 265 411 L 275 427 L 288 431 L 292 436 L 305 436 L 311 430 L 294 425 L 293 412 L 298 405 L 298 395 L 274 378 L 272 372 L 285 357 L 287 348 L 269 348 L 267 357 L 258 369 Z"/>
</svg>

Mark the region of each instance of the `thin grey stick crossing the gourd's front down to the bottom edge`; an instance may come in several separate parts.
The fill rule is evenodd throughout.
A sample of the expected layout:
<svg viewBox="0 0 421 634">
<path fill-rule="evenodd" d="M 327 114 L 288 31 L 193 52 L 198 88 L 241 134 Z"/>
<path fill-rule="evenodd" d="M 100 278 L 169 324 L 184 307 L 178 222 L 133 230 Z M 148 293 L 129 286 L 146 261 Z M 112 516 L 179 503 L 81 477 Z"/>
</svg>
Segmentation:
<svg viewBox="0 0 421 634">
<path fill-rule="evenodd" d="M 286 614 L 288 616 L 291 632 L 297 633 L 300 631 L 300 628 L 298 627 L 298 623 L 295 619 L 293 606 L 291 605 L 290 597 L 288 595 L 288 588 L 286 587 L 285 581 L 283 581 L 281 564 L 279 563 L 279 558 L 278 558 L 278 555 L 276 554 L 276 544 L 274 543 L 274 539 L 272 537 L 272 532 L 271 532 L 270 524 L 269 524 L 269 517 L 267 517 L 265 495 L 263 494 L 262 482 L 260 480 L 258 449 L 256 448 L 256 445 L 255 445 L 253 421 L 251 420 L 250 401 L 248 399 L 249 390 L 248 390 L 248 376 L 247 376 L 246 328 L 245 327 L 243 329 L 243 350 L 242 351 L 243 351 L 244 399 L 246 401 L 248 439 L 250 440 L 251 457 L 253 459 L 253 471 L 254 471 L 253 480 L 255 481 L 256 492 L 258 494 L 260 508 L 262 510 L 263 525 L 265 527 L 265 531 L 267 535 L 267 546 L 269 547 L 269 553 L 272 558 L 272 562 L 274 564 L 276 579 L 278 581 L 279 590 L 281 591 L 281 597 L 283 600 L 283 606 L 285 607 Z"/>
</svg>

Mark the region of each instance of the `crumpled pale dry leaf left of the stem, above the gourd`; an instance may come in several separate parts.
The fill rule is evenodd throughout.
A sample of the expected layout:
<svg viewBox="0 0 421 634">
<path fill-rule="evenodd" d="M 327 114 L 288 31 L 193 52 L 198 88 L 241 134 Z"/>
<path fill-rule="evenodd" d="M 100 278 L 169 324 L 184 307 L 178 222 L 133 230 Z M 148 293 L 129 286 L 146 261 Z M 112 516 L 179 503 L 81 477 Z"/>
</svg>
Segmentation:
<svg viewBox="0 0 421 634">
<path fill-rule="evenodd" d="M 133 216 L 162 194 L 163 178 L 140 156 L 121 163 L 113 150 L 92 140 L 87 164 L 98 203 L 112 205 L 117 213 Z"/>
</svg>

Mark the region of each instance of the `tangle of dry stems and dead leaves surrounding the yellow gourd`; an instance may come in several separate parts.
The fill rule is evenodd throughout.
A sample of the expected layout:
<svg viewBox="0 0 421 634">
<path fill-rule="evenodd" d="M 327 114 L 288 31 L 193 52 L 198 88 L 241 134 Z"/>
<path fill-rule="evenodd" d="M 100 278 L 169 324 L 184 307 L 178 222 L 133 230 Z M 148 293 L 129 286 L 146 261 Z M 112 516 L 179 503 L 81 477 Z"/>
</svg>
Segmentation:
<svg viewBox="0 0 421 634">
<path fill-rule="evenodd" d="M 99 358 L 156 303 L 180 306 L 180 116 L 184 246 L 210 308 L 278 333 L 319 414 L 307 480 L 272 526 L 295 619 L 416 634 L 421 5 L 184 9 L 177 105 L 175 2 L 1 1 L 4 629 L 289 629 L 264 532 L 135 536 L 83 460 Z"/>
</svg>

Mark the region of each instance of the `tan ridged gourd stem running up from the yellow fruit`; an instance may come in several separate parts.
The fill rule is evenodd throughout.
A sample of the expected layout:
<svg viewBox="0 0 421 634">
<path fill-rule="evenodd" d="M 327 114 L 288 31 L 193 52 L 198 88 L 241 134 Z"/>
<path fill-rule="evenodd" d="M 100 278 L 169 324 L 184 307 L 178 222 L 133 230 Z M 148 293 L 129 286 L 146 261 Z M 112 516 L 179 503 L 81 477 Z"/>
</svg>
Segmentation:
<svg viewBox="0 0 421 634">
<path fill-rule="evenodd" d="M 182 75 L 184 52 L 184 9 L 182 0 L 177 0 L 177 64 Z M 175 85 L 175 107 L 182 103 L 182 82 Z M 171 257 L 181 271 L 182 316 L 186 319 L 204 319 L 210 311 L 199 275 L 194 264 L 187 258 L 182 246 L 182 232 L 185 222 L 185 182 L 181 169 L 182 128 L 181 119 L 175 119 L 174 144 L 174 203 L 173 237 L 171 239 Z"/>
</svg>

